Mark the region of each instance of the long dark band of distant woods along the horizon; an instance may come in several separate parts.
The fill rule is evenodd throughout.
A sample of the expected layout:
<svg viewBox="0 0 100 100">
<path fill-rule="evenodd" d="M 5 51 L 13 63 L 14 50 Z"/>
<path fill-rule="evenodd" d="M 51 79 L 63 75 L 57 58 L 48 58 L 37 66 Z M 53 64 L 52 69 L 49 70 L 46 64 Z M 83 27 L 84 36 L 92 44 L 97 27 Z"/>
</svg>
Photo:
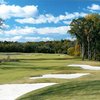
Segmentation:
<svg viewBox="0 0 100 100">
<path fill-rule="evenodd" d="M 75 41 L 47 41 L 47 42 L 0 42 L 0 52 L 26 52 L 26 53 L 63 53 L 73 47 Z"/>
</svg>

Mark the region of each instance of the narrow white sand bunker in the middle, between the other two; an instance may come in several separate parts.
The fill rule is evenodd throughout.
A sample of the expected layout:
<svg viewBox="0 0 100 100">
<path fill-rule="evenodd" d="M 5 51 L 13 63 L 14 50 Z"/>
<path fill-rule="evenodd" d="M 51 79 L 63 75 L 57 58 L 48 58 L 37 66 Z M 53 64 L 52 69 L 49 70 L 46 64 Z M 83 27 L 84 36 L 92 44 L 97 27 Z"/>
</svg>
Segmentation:
<svg viewBox="0 0 100 100">
<path fill-rule="evenodd" d="M 75 74 L 45 74 L 40 77 L 31 77 L 30 79 L 40 79 L 40 78 L 60 78 L 60 79 L 72 79 L 79 78 L 89 73 L 75 73 Z"/>
</svg>

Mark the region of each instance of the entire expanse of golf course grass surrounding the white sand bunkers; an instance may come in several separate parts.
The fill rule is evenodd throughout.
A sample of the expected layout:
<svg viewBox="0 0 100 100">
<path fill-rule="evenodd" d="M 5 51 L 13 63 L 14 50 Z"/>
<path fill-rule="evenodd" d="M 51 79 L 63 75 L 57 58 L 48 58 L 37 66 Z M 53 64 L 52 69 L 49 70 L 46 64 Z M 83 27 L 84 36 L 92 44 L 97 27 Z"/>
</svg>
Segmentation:
<svg viewBox="0 0 100 100">
<path fill-rule="evenodd" d="M 8 53 L 0 53 L 0 59 L 6 59 Z M 58 83 L 35 90 L 18 100 L 99 100 L 100 70 L 87 70 L 70 64 L 100 66 L 100 62 L 81 61 L 65 54 L 9 53 L 11 62 L 0 63 L 0 84 Z M 45 74 L 89 73 L 75 79 L 40 78 Z M 88 96 L 87 96 L 88 95 Z"/>
</svg>

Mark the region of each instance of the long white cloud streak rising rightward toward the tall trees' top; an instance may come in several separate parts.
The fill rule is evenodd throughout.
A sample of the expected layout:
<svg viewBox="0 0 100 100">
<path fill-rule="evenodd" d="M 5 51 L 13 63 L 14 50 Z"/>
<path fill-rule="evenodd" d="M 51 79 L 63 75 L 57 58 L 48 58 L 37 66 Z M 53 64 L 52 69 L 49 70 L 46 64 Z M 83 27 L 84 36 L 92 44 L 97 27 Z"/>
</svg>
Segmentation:
<svg viewBox="0 0 100 100">
<path fill-rule="evenodd" d="M 40 15 L 37 18 L 24 18 L 24 19 L 15 19 L 16 22 L 25 24 L 42 24 L 42 23 L 58 23 L 60 21 L 65 21 L 68 19 L 73 19 L 76 17 L 83 17 L 85 16 L 86 13 L 79 13 L 79 12 L 74 12 L 74 13 L 65 13 L 64 15 L 59 15 L 59 16 L 53 16 L 52 14 L 45 14 L 45 15 Z"/>
</svg>

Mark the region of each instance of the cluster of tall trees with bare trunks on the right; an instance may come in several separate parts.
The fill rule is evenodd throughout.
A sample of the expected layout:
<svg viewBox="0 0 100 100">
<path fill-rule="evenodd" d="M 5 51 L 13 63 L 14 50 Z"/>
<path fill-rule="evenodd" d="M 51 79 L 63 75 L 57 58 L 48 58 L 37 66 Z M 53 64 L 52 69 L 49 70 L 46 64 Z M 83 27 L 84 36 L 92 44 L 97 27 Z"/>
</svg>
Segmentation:
<svg viewBox="0 0 100 100">
<path fill-rule="evenodd" d="M 75 36 L 81 47 L 82 60 L 98 60 L 100 56 L 100 15 L 89 14 L 85 17 L 74 19 L 69 33 Z"/>
</svg>

